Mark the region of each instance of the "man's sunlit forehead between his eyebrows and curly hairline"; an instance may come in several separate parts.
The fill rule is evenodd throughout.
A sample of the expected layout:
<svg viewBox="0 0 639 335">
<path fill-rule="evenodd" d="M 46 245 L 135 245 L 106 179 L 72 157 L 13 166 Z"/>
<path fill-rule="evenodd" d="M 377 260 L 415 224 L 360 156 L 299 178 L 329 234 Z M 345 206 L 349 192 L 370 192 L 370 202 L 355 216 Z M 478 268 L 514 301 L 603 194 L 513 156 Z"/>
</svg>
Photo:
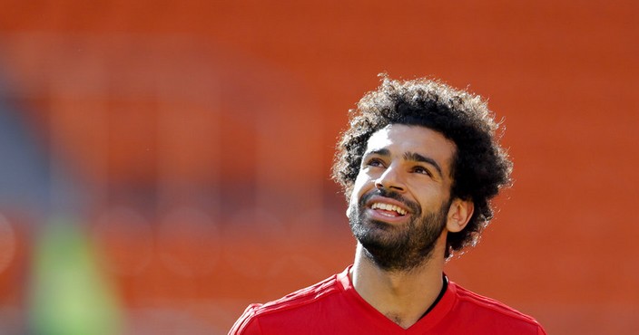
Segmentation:
<svg viewBox="0 0 639 335">
<path fill-rule="evenodd" d="M 380 149 L 388 149 L 392 156 L 417 153 L 433 158 L 445 172 L 448 172 L 457 147 L 436 130 L 421 126 L 391 124 L 373 133 L 367 143 L 367 152 Z"/>
</svg>

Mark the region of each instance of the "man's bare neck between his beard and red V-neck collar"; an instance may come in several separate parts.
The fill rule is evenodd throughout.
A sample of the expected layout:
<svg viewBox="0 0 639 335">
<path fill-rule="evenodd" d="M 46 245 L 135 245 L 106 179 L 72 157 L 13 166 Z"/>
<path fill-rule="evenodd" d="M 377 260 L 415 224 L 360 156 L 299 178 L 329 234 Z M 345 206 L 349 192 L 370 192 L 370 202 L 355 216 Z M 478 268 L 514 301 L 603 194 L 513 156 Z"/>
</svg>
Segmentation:
<svg viewBox="0 0 639 335">
<path fill-rule="evenodd" d="M 358 244 L 350 273 L 353 286 L 373 308 L 408 329 L 428 311 L 441 292 L 444 257 L 443 254 L 437 257 L 438 254 L 436 248 L 433 256 L 417 268 L 388 272 L 366 257 L 362 245 Z"/>
</svg>

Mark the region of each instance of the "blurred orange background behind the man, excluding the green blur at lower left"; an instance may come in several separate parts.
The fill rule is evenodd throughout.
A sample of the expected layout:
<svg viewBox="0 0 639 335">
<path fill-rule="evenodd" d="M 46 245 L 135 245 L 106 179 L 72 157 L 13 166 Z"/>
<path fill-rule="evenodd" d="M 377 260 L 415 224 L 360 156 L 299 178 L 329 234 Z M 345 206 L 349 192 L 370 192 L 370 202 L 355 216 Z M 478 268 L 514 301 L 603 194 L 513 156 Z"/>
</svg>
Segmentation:
<svg viewBox="0 0 639 335">
<path fill-rule="evenodd" d="M 503 118 L 515 187 L 452 280 L 549 334 L 639 333 L 639 3 L 0 1 L 0 333 L 53 218 L 125 334 L 225 334 L 352 262 L 347 110 L 433 76 Z"/>
</svg>

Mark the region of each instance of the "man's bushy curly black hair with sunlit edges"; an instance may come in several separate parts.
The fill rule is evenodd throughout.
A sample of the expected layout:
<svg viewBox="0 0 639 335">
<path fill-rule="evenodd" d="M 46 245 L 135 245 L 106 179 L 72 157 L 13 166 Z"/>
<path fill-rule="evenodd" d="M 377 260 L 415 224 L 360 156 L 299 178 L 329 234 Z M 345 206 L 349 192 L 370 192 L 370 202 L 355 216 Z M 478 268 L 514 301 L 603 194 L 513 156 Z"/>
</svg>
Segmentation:
<svg viewBox="0 0 639 335">
<path fill-rule="evenodd" d="M 487 102 L 437 80 L 391 80 L 381 84 L 349 110 L 350 127 L 339 140 L 332 177 L 349 198 L 370 136 L 389 124 L 422 126 L 442 133 L 457 150 L 452 162 L 451 199 L 472 200 L 475 211 L 467 226 L 447 235 L 445 257 L 475 245 L 493 218 L 490 199 L 510 186 L 512 162 L 497 143 L 498 124 Z"/>
</svg>

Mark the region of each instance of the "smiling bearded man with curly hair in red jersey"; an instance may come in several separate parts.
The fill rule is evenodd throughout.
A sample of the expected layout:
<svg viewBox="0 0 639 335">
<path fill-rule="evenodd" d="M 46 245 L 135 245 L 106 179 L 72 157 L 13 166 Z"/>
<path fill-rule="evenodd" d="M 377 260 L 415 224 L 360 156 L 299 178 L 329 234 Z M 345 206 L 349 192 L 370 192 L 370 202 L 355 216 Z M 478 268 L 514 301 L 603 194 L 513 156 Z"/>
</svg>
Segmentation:
<svg viewBox="0 0 639 335">
<path fill-rule="evenodd" d="M 511 162 L 480 97 L 438 81 L 394 81 L 350 110 L 333 177 L 358 244 L 343 273 L 265 304 L 230 334 L 546 334 L 532 318 L 443 274 L 477 243 Z"/>
</svg>

